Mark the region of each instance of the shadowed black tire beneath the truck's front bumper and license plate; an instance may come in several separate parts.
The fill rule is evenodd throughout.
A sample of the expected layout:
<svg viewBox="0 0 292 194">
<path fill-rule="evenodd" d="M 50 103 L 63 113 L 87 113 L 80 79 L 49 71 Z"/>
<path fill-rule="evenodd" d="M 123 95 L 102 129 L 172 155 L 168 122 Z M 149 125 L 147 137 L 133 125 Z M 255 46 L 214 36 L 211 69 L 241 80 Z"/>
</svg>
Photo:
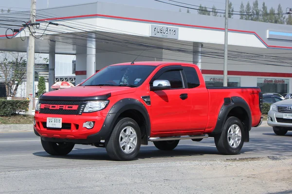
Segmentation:
<svg viewBox="0 0 292 194">
<path fill-rule="evenodd" d="M 47 141 L 43 141 L 41 140 L 41 145 L 43 146 L 44 150 L 51 155 L 54 156 L 65 156 L 67 154 L 69 154 L 73 147 L 75 146 L 75 144 L 72 143 L 65 143 L 65 142 L 60 142 L 60 143 L 56 143 L 56 142 L 47 142 Z"/>
</svg>

